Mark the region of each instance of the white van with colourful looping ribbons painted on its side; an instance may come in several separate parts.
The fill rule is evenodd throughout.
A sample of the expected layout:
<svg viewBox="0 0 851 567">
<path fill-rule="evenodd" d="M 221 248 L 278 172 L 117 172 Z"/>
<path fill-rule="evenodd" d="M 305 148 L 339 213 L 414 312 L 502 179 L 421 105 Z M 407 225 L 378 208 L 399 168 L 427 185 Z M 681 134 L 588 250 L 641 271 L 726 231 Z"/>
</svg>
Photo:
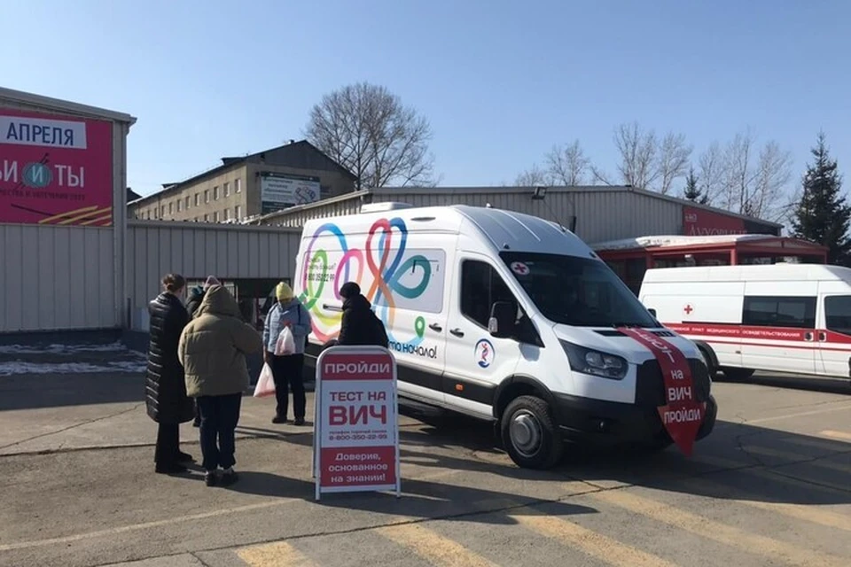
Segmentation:
<svg viewBox="0 0 851 567">
<path fill-rule="evenodd" d="M 355 281 L 385 322 L 400 397 L 493 422 L 521 467 L 550 467 L 565 439 L 671 443 L 660 363 L 619 327 L 682 350 L 707 402 L 697 439 L 712 431 L 698 349 L 573 233 L 489 207 L 380 205 L 304 225 L 293 283 L 314 315 L 308 366 L 336 338 L 337 291 Z"/>
</svg>

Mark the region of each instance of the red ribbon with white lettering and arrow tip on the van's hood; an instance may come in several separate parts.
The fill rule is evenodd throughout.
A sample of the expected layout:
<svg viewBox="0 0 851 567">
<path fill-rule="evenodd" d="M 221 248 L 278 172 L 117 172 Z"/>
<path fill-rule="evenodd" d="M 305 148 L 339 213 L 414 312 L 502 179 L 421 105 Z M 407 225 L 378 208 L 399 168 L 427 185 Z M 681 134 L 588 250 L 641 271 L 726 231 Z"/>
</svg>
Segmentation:
<svg viewBox="0 0 851 567">
<path fill-rule="evenodd" d="M 689 361 L 680 349 L 649 331 L 620 331 L 649 348 L 659 362 L 665 380 L 665 400 L 668 401 L 666 405 L 657 408 L 659 415 L 676 446 L 680 447 L 684 454 L 691 456 L 691 448 L 698 436 L 700 423 L 703 423 L 707 404 L 695 398 Z"/>
</svg>

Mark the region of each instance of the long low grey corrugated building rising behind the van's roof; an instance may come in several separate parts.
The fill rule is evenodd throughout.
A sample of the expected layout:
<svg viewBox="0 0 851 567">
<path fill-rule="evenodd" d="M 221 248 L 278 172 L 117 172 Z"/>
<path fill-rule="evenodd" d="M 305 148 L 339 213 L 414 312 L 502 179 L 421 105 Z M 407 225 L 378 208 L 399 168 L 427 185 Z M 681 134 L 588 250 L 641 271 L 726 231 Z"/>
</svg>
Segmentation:
<svg viewBox="0 0 851 567">
<path fill-rule="evenodd" d="M 779 234 L 782 225 L 702 206 L 652 191 L 621 186 L 589 187 L 463 187 L 364 190 L 318 203 L 294 206 L 254 221 L 266 226 L 299 228 L 316 218 L 357 214 L 369 203 L 396 201 L 413 206 L 465 204 L 534 214 L 557 221 L 588 243 L 648 235 L 680 235 L 699 229 L 709 234 L 713 222 L 742 225 L 743 231 Z M 699 214 L 706 221 L 700 225 Z M 701 228 L 702 227 L 702 228 Z"/>
</svg>

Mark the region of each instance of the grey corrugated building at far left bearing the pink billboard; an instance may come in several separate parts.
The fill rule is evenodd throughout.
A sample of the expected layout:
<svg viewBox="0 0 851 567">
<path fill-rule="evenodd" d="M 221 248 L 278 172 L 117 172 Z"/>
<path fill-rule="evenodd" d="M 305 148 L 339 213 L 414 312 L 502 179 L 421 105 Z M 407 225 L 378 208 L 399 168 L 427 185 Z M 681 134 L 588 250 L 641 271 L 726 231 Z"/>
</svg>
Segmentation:
<svg viewBox="0 0 851 567">
<path fill-rule="evenodd" d="M 0 88 L 0 332 L 121 326 L 135 121 Z"/>
</svg>

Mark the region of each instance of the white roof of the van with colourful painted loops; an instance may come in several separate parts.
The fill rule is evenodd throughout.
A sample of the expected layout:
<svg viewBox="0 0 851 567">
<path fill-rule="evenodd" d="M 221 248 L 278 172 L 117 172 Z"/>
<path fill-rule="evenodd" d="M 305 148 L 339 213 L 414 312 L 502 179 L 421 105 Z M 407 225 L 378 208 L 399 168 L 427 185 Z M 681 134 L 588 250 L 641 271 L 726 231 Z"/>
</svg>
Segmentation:
<svg viewBox="0 0 851 567">
<path fill-rule="evenodd" d="M 340 226 L 343 232 L 367 232 L 372 223 L 383 218 L 400 218 L 409 232 L 437 231 L 458 234 L 463 221 L 475 225 L 496 251 L 544 252 L 593 255 L 588 245 L 557 222 L 531 214 L 516 213 L 484 206 L 448 205 L 411 208 L 345 216 L 311 219 L 304 223 L 305 232 L 313 232 L 325 223 Z"/>
</svg>

